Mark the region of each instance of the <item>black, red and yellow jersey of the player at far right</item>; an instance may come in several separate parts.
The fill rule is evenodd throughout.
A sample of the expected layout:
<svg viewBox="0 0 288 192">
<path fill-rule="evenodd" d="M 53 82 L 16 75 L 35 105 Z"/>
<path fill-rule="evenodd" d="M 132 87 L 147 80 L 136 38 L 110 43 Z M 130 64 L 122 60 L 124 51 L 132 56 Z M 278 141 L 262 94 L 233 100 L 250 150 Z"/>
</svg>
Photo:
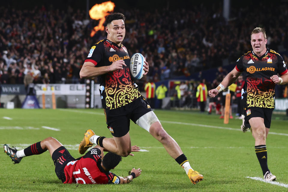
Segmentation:
<svg viewBox="0 0 288 192">
<path fill-rule="evenodd" d="M 243 72 L 245 84 L 242 94 L 247 93 L 247 107 L 274 108 L 275 83 L 270 77 L 288 72 L 283 58 L 271 49 L 261 57 L 249 51 L 237 60 L 235 68 Z"/>
</svg>

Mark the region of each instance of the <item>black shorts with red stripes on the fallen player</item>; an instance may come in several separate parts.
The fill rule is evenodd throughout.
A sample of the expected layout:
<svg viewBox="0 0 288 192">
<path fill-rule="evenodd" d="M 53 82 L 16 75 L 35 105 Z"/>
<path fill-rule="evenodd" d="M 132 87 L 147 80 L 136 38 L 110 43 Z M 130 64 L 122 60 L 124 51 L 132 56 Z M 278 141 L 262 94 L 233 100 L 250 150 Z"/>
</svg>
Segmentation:
<svg viewBox="0 0 288 192">
<path fill-rule="evenodd" d="M 76 159 L 70 155 L 69 151 L 64 146 L 61 146 L 53 152 L 52 160 L 55 165 L 57 177 L 64 183 L 66 181 L 64 168 L 69 162 L 76 161 Z"/>
</svg>

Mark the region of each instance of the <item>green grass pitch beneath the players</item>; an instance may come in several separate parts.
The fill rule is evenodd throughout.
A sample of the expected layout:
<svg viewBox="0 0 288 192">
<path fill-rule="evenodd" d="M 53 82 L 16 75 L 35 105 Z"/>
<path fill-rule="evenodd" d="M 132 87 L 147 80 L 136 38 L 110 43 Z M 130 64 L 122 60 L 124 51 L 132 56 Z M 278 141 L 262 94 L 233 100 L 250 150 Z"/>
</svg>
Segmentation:
<svg viewBox="0 0 288 192">
<path fill-rule="evenodd" d="M 204 176 L 203 181 L 191 184 L 185 171 L 162 144 L 131 121 L 131 143 L 140 146 L 143 152 L 123 158 L 113 173 L 126 176 L 132 167 L 140 167 L 142 174 L 132 183 L 62 184 L 55 175 L 48 152 L 23 158 L 20 164 L 14 165 L 2 149 L 0 191 L 288 191 L 288 120 L 284 115 L 273 114 L 266 143 L 268 166 L 277 176 L 278 185 L 273 185 L 247 178 L 262 178 L 262 171 L 251 133 L 240 131 L 241 120 L 232 119 L 225 125 L 218 115 L 213 114 L 164 110 L 155 110 L 155 114 L 168 134 L 178 142 L 192 168 Z M 0 109 L 1 146 L 7 143 L 24 149 L 51 136 L 78 158 L 78 144 L 86 129 L 111 137 L 102 109 Z"/>
</svg>

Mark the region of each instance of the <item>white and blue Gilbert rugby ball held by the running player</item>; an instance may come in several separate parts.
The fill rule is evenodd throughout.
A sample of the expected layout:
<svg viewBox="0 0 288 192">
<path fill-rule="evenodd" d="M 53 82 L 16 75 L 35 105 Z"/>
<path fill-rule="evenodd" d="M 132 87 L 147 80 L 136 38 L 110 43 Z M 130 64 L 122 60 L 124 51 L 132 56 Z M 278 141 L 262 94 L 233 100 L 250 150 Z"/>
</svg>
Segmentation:
<svg viewBox="0 0 288 192">
<path fill-rule="evenodd" d="M 145 58 L 141 53 L 134 53 L 130 59 L 130 73 L 134 79 L 141 79 L 143 77 Z"/>
</svg>

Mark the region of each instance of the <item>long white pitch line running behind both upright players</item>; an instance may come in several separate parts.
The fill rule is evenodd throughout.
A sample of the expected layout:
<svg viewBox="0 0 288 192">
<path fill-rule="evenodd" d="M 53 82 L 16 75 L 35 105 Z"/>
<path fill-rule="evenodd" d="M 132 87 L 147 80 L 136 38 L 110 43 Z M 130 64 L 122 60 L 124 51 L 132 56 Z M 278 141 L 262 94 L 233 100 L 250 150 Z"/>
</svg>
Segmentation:
<svg viewBox="0 0 288 192">
<path fill-rule="evenodd" d="M 90 112 L 90 111 L 79 111 L 79 110 L 72 110 L 72 109 L 58 109 L 60 111 L 68 111 L 68 112 L 76 112 L 76 113 L 86 113 L 86 114 L 95 114 L 95 115 L 104 115 L 104 113 L 97 113 L 97 112 Z M 211 126 L 211 125 L 201 125 L 201 124 L 195 124 L 195 123 L 183 123 L 183 122 L 176 122 L 176 121 L 162 121 L 160 120 L 161 123 L 171 123 L 171 124 L 179 124 L 179 125 L 188 125 L 188 126 L 196 126 L 196 127 L 207 127 L 207 128 L 217 128 L 217 129 L 227 129 L 227 130 L 233 130 L 233 131 L 241 131 L 240 129 L 240 124 L 239 128 L 231 128 L 231 127 L 219 127 L 219 126 Z M 270 132 L 269 134 L 274 134 L 274 135 L 283 135 L 283 136 L 288 136 L 286 133 L 275 133 L 275 132 Z"/>
</svg>

